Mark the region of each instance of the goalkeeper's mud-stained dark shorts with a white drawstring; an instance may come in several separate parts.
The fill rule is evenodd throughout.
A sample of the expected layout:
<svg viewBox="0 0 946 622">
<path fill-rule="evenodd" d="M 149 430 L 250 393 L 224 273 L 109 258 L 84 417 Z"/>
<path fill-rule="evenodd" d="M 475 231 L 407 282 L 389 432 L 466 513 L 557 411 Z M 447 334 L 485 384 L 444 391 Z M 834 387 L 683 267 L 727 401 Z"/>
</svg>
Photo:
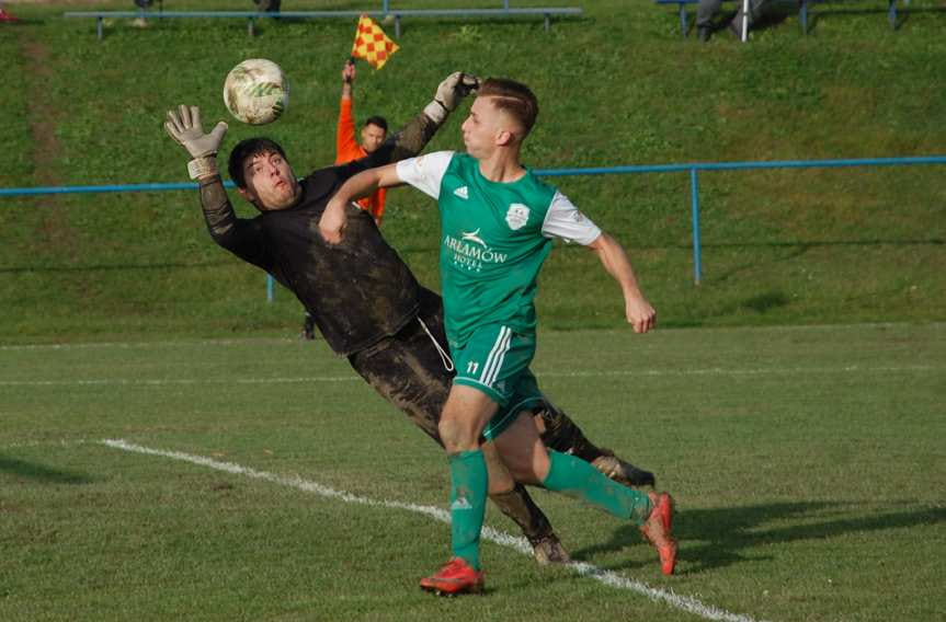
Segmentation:
<svg viewBox="0 0 946 622">
<path fill-rule="evenodd" d="M 440 296 L 421 288 L 420 311 L 397 334 L 349 356 L 380 395 L 443 446 L 437 422 L 453 378 Z"/>
</svg>

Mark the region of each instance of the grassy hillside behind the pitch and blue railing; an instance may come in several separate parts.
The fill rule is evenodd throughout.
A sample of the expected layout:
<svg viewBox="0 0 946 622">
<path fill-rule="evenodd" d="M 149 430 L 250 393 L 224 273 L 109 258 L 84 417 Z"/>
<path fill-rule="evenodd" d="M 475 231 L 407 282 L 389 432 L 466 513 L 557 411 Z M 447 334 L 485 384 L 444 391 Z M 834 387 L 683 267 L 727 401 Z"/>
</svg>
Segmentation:
<svg viewBox="0 0 946 622">
<path fill-rule="evenodd" d="M 494 7 L 394 0 L 399 8 Z M 96 41 L 65 10 L 128 2 L 8 2 L 0 26 L 0 187 L 186 181 L 164 111 L 194 103 L 226 118 L 227 71 L 266 57 L 288 73 L 287 115 L 262 128 L 298 173 L 333 159 L 340 70 L 354 23 L 127 22 Z M 244 5 L 246 4 L 246 5 Z M 286 10 L 376 8 L 286 3 Z M 623 0 L 581 19 L 406 19 L 384 70 L 360 65 L 356 115 L 400 125 L 455 69 L 509 76 L 542 103 L 525 158 L 537 169 L 692 161 L 868 158 L 946 152 L 946 4 L 913 0 L 899 30 L 879 1 L 819 4 L 809 36 L 780 5 L 749 45 L 680 38 L 675 11 Z M 181 1 L 168 10 L 252 9 Z M 392 28 L 390 28 L 392 34 Z M 460 148 L 456 115 L 431 148 Z M 225 149 L 259 133 L 230 119 Z M 700 175 L 704 279 L 692 280 L 685 174 L 554 180 L 629 249 L 663 325 L 744 325 L 946 318 L 944 168 L 713 172 Z M 384 230 L 436 285 L 436 215 L 418 193 L 389 195 Z M 242 214 L 250 215 L 246 205 Z M 196 193 L 0 197 L 0 342 L 219 335 L 298 327 L 300 311 L 207 237 Z M 552 254 L 539 295 L 546 326 L 622 324 L 618 292 L 581 249 Z"/>
</svg>

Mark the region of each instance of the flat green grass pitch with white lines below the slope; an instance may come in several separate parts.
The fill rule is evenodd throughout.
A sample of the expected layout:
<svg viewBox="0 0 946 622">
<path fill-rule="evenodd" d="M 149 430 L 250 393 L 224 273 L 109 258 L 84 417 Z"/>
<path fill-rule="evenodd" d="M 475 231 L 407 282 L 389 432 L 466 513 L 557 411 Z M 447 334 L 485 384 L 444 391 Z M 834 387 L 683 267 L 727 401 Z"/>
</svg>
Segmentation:
<svg viewBox="0 0 946 622">
<path fill-rule="evenodd" d="M 538 491 L 600 580 L 490 541 L 444 600 L 444 459 L 323 343 L 3 346 L 0 620 L 938 619 L 944 361 L 937 323 L 543 333 L 544 388 L 674 493 L 679 575 Z"/>
</svg>

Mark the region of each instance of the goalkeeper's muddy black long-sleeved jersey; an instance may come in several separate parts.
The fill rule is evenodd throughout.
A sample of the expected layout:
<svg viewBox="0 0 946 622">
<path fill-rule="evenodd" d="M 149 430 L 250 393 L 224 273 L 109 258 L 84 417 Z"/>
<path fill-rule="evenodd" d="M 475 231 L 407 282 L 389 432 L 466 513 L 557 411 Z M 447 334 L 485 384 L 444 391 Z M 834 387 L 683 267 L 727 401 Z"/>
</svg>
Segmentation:
<svg viewBox="0 0 946 622">
<path fill-rule="evenodd" d="M 338 245 L 322 239 L 319 219 L 345 180 L 417 154 L 435 130 L 432 120 L 419 115 L 368 157 L 299 180 L 301 199 L 294 207 L 251 219 L 237 218 L 220 177 L 206 180 L 201 201 L 210 235 L 293 291 L 335 353 L 364 349 L 414 318 L 420 286 L 366 211 L 349 206 Z"/>
</svg>

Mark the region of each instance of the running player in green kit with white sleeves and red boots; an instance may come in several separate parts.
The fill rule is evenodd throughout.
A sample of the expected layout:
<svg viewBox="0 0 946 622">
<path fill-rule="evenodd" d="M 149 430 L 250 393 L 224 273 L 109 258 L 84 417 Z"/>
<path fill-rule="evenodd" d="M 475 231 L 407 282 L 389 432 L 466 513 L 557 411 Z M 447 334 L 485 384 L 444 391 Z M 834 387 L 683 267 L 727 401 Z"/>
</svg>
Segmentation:
<svg viewBox="0 0 946 622">
<path fill-rule="evenodd" d="M 440 594 L 483 587 L 479 534 L 488 475 L 480 437 L 494 444 L 517 481 L 635 521 L 657 548 L 664 574 L 676 561 L 670 495 L 622 486 L 586 462 L 546 450 L 531 416 L 542 399 L 528 367 L 536 281 L 554 238 L 597 254 L 620 285 L 636 333 L 657 321 L 623 246 L 523 166 L 522 143 L 537 115 L 538 102 L 524 84 L 483 81 L 463 124 L 466 153 L 441 151 L 360 173 L 332 197 L 319 226 L 328 242 L 340 242 L 345 205 L 378 187 L 407 183 L 438 200 L 441 286 L 457 370 L 438 424 L 451 472 L 453 557 L 421 587 Z"/>
</svg>

